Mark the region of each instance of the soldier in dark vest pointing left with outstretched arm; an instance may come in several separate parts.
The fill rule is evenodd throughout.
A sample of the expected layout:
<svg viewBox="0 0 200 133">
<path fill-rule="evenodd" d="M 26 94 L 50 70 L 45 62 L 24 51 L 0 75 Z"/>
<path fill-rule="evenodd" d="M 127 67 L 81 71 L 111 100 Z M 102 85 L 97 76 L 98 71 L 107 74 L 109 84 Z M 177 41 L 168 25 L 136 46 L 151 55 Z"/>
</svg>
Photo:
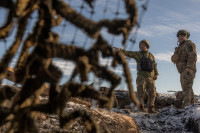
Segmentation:
<svg viewBox="0 0 200 133">
<path fill-rule="evenodd" d="M 144 107 L 145 91 L 148 94 L 148 112 L 157 113 L 154 109 L 156 97 L 155 80 L 158 77 L 157 65 L 154 56 L 149 52 L 149 42 L 141 40 L 140 51 L 125 51 L 119 48 L 127 57 L 133 58 L 137 62 L 137 97 L 140 102 L 140 110 L 146 112 Z"/>
</svg>

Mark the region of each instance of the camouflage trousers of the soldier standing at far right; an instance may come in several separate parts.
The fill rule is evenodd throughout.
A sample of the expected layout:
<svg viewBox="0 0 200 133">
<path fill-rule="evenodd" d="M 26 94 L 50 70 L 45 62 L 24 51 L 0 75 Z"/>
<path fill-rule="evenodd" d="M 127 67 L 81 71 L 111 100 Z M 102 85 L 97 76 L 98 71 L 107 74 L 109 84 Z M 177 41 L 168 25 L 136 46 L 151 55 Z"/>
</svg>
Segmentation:
<svg viewBox="0 0 200 133">
<path fill-rule="evenodd" d="M 192 89 L 194 78 L 195 73 L 193 72 L 184 71 L 181 73 L 180 80 L 184 96 L 183 103 L 185 106 L 195 103 L 194 92 Z"/>
</svg>

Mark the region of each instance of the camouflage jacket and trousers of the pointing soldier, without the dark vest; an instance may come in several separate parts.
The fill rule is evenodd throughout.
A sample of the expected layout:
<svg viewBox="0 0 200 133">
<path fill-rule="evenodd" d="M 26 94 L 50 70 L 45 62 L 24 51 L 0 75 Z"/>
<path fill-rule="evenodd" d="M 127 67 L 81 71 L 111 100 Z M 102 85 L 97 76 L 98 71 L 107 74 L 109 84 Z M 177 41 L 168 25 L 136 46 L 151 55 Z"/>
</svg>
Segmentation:
<svg viewBox="0 0 200 133">
<path fill-rule="evenodd" d="M 155 62 L 154 56 L 150 52 L 136 52 L 136 51 L 125 51 L 122 50 L 123 53 L 130 58 L 133 58 L 137 62 L 137 96 L 141 105 L 144 106 L 144 96 L 145 91 L 148 93 L 148 106 L 154 107 L 155 97 L 156 97 L 156 88 L 155 88 L 155 80 L 153 79 L 155 75 L 158 75 L 157 66 Z M 143 57 L 150 57 L 151 60 L 154 61 L 154 69 L 152 72 L 142 71 L 140 67 L 140 62 Z"/>
</svg>

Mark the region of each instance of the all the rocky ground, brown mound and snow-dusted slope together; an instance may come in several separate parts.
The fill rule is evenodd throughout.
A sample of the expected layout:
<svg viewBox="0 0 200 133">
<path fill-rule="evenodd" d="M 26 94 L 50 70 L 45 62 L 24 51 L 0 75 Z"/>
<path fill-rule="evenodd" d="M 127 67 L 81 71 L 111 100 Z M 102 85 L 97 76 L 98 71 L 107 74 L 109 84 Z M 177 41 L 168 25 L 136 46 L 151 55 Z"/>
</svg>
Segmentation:
<svg viewBox="0 0 200 133">
<path fill-rule="evenodd" d="M 173 94 L 162 94 L 162 97 L 173 97 Z M 101 132 L 107 129 L 111 133 L 198 133 L 200 132 L 200 104 L 199 96 L 196 96 L 197 104 L 177 109 L 174 105 L 168 105 L 158 110 L 156 114 L 143 113 L 132 104 L 124 108 L 112 108 L 110 111 L 98 108 L 87 101 L 80 99 L 71 100 L 66 104 L 65 113 L 73 110 L 85 110 L 95 120 Z M 41 102 L 46 102 L 47 97 L 40 97 Z M 77 119 L 71 127 L 59 128 L 59 119 L 56 115 L 40 113 L 36 118 L 36 125 L 41 133 L 86 133 L 81 119 Z M 0 127 L 3 133 L 9 127 L 9 123 Z"/>
</svg>

